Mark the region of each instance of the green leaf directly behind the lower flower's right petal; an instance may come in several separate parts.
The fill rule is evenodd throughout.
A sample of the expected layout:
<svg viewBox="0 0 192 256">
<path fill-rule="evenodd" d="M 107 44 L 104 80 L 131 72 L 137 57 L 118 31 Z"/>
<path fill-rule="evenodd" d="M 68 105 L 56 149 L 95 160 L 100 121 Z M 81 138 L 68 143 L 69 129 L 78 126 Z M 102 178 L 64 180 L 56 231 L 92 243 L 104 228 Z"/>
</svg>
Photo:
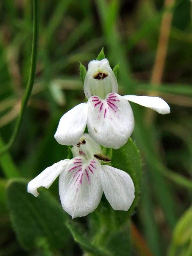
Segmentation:
<svg viewBox="0 0 192 256">
<path fill-rule="evenodd" d="M 140 151 L 131 138 L 128 139 L 127 143 L 123 147 L 113 149 L 111 166 L 127 172 L 131 176 L 135 186 L 135 199 L 131 207 L 128 212 L 121 212 L 121 216 L 123 218 L 124 216 L 128 218 L 132 215 L 134 208 L 138 203 L 140 181 L 142 177 L 142 160 Z"/>
</svg>

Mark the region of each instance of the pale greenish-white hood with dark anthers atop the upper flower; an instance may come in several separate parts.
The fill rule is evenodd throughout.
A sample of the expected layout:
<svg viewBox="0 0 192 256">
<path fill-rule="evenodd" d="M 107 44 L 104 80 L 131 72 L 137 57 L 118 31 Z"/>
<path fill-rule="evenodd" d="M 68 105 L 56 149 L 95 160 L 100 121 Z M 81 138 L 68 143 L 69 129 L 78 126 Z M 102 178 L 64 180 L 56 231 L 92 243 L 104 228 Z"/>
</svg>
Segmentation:
<svg viewBox="0 0 192 256">
<path fill-rule="evenodd" d="M 109 92 L 118 92 L 118 84 L 107 59 L 92 60 L 88 64 L 84 80 L 84 93 L 87 99 L 93 95 L 105 99 Z"/>
</svg>

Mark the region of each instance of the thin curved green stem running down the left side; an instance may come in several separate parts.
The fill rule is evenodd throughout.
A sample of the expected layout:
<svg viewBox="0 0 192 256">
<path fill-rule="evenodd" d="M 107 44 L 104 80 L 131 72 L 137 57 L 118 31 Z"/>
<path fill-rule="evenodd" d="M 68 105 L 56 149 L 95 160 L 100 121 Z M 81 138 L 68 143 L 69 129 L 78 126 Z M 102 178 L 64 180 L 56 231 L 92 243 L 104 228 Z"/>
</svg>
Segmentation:
<svg viewBox="0 0 192 256">
<path fill-rule="evenodd" d="M 25 109 L 28 105 L 28 100 L 33 88 L 35 75 L 36 75 L 36 60 L 37 60 L 37 46 L 38 46 L 38 0 L 33 0 L 33 41 L 32 41 L 32 53 L 31 53 L 31 65 L 29 72 L 29 79 L 25 94 L 21 102 L 20 115 L 17 119 L 14 131 L 9 142 L 0 149 L 0 156 L 3 155 L 9 148 L 11 148 L 15 138 L 20 130 L 21 122 L 25 113 Z"/>
</svg>

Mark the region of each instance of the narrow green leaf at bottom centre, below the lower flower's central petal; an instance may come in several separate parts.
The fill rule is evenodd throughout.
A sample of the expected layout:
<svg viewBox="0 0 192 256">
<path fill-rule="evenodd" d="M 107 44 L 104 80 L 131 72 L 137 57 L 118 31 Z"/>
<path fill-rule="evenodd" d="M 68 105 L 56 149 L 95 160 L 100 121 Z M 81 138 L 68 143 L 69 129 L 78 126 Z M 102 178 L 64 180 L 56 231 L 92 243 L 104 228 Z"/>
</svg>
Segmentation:
<svg viewBox="0 0 192 256">
<path fill-rule="evenodd" d="M 90 252 L 96 256 L 110 256 L 108 252 L 101 250 L 100 248 L 91 244 L 89 239 L 85 237 L 84 232 L 80 225 L 74 220 L 66 221 L 66 226 L 73 235 L 74 240 L 79 244 L 79 246 L 86 252 Z"/>
</svg>

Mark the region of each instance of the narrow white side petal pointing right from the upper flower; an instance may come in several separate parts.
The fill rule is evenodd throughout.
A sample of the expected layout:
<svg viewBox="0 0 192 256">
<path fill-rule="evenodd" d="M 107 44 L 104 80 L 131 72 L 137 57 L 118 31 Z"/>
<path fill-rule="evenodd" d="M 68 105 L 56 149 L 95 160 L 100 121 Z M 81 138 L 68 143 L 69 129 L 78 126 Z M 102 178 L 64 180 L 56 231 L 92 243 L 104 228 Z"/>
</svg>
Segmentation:
<svg viewBox="0 0 192 256">
<path fill-rule="evenodd" d="M 169 114 L 170 107 L 166 101 L 159 97 L 152 96 L 137 96 L 137 95 L 125 95 L 124 99 L 140 104 L 141 106 L 151 108 L 157 111 L 159 114 Z"/>
</svg>

